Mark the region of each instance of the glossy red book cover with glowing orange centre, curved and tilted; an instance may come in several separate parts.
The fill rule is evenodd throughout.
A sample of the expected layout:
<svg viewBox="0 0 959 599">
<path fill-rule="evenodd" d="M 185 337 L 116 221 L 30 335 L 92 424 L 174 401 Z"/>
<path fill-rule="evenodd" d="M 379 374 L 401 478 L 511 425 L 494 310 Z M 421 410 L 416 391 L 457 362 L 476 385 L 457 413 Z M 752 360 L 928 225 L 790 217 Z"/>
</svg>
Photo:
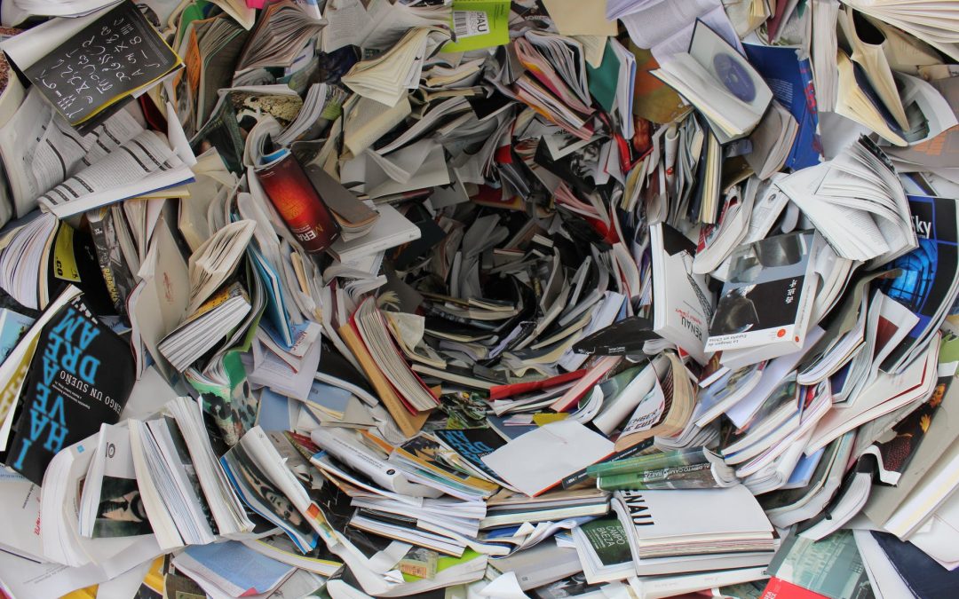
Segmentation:
<svg viewBox="0 0 959 599">
<path fill-rule="evenodd" d="M 258 171 L 256 177 L 308 253 L 318 254 L 339 239 L 339 224 L 292 154 Z"/>
</svg>

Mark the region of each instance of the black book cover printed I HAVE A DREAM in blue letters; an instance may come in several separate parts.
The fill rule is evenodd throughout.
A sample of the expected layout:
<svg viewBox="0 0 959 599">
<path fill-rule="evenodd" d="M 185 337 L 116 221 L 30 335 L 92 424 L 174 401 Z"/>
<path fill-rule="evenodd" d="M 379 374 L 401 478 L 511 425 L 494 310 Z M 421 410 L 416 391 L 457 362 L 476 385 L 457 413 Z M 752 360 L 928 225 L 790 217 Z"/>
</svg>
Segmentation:
<svg viewBox="0 0 959 599">
<path fill-rule="evenodd" d="M 7 466 L 39 485 L 59 449 L 120 420 L 133 356 L 81 296 L 43 328 L 27 377 Z"/>
</svg>

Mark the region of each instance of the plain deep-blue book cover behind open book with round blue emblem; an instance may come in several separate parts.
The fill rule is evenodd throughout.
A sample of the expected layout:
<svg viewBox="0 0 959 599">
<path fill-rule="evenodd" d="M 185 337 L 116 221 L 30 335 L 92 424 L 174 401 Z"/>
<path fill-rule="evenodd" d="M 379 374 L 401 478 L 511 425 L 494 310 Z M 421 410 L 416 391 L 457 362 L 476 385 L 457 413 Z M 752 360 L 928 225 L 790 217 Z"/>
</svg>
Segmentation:
<svg viewBox="0 0 959 599">
<path fill-rule="evenodd" d="M 795 48 L 754 44 L 743 44 L 743 48 L 746 58 L 772 89 L 776 101 L 783 104 L 799 124 L 785 167 L 798 171 L 819 164 L 823 143 L 819 139 L 819 111 L 809 59 L 800 59 Z"/>
</svg>

